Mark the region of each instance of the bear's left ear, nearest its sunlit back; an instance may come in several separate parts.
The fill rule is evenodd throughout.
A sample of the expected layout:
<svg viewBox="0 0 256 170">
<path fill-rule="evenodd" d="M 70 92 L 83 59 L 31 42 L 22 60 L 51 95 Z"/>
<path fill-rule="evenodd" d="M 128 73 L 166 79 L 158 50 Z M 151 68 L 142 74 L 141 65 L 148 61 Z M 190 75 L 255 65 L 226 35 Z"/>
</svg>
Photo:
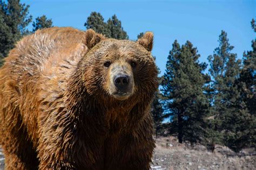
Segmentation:
<svg viewBox="0 0 256 170">
<path fill-rule="evenodd" d="M 98 34 L 92 29 L 89 29 L 85 32 L 84 43 L 87 48 L 91 49 L 103 39 L 105 39 L 105 37 L 102 34 Z"/>
</svg>

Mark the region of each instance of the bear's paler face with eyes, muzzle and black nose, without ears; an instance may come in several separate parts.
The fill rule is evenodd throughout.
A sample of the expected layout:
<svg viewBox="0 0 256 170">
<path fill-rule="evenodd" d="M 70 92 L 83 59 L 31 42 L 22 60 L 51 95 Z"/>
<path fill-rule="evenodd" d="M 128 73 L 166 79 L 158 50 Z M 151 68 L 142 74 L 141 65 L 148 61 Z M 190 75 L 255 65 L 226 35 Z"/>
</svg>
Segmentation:
<svg viewBox="0 0 256 170">
<path fill-rule="evenodd" d="M 107 40 L 106 40 L 107 41 Z M 104 69 L 105 81 L 102 81 L 104 90 L 118 100 L 125 100 L 134 92 L 134 73 L 138 60 L 134 58 L 131 49 L 125 48 L 127 42 L 105 42 L 110 44 L 101 64 Z M 121 45 L 121 46 L 120 46 Z M 122 47 L 123 45 L 123 47 Z M 125 49 L 125 51 L 120 50 Z M 129 51 L 129 52 L 126 52 Z"/>
</svg>

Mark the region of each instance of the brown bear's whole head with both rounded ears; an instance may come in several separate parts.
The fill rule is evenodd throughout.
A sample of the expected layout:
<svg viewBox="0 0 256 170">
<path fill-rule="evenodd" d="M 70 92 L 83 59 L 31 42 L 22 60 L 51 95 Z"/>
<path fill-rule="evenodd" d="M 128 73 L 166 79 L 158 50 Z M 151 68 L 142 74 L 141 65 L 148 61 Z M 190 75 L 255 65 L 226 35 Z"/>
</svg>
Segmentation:
<svg viewBox="0 0 256 170">
<path fill-rule="evenodd" d="M 123 101 L 131 96 L 154 94 L 157 69 L 151 55 L 152 32 L 134 42 L 105 38 L 87 30 L 84 41 L 88 52 L 81 67 L 89 95 Z"/>
</svg>

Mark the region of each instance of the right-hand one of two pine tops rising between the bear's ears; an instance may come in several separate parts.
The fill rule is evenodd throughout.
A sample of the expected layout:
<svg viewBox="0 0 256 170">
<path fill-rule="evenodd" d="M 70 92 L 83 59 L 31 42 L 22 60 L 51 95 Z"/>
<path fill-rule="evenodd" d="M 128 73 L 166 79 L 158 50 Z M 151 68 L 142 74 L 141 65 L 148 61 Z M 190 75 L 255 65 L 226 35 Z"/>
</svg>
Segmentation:
<svg viewBox="0 0 256 170">
<path fill-rule="evenodd" d="M 121 21 L 117 19 L 116 15 L 113 15 L 107 20 L 107 26 L 111 32 L 110 37 L 114 39 L 129 39 L 127 33 L 124 31 Z"/>
</svg>

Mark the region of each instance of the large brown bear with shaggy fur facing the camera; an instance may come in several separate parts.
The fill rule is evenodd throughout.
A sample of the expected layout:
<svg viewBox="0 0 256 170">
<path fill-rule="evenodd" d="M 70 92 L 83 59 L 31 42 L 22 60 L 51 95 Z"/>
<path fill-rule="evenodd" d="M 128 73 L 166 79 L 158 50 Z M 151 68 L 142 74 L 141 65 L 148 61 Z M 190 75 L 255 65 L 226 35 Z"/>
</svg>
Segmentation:
<svg viewBox="0 0 256 170">
<path fill-rule="evenodd" d="M 152 44 L 71 27 L 19 41 L 0 69 L 6 169 L 149 169 Z"/>
</svg>

